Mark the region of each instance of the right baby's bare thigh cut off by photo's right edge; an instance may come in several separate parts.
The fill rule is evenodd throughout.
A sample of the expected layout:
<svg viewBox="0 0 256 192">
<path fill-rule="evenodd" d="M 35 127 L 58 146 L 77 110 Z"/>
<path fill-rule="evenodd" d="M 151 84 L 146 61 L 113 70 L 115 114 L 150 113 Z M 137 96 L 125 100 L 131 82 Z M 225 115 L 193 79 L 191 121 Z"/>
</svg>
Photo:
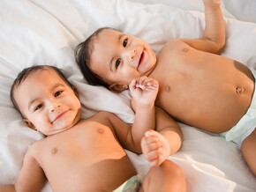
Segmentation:
<svg viewBox="0 0 256 192">
<path fill-rule="evenodd" d="M 246 163 L 251 168 L 252 173 L 256 176 L 256 129 L 254 129 L 249 137 L 245 138 L 241 145 L 241 151 Z"/>
</svg>

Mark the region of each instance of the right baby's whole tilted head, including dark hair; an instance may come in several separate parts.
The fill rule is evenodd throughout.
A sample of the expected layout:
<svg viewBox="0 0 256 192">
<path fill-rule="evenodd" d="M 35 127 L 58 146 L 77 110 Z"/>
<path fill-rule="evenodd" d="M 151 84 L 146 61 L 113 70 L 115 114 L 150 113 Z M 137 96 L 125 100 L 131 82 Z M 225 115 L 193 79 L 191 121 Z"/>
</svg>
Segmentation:
<svg viewBox="0 0 256 192">
<path fill-rule="evenodd" d="M 147 42 L 109 27 L 98 29 L 81 42 L 75 55 L 89 84 L 116 92 L 127 89 L 132 79 L 149 75 L 156 63 Z"/>
</svg>

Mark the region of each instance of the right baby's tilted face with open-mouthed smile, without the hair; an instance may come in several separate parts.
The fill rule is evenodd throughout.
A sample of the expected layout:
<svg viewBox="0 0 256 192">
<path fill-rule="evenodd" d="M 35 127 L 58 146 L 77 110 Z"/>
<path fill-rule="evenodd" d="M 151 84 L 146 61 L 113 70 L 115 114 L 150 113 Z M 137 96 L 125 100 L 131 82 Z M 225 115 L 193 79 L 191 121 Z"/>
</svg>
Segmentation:
<svg viewBox="0 0 256 192">
<path fill-rule="evenodd" d="M 129 85 L 132 79 L 148 75 L 155 63 L 147 42 L 132 35 L 105 29 L 93 41 L 90 68 L 109 85 Z"/>
</svg>

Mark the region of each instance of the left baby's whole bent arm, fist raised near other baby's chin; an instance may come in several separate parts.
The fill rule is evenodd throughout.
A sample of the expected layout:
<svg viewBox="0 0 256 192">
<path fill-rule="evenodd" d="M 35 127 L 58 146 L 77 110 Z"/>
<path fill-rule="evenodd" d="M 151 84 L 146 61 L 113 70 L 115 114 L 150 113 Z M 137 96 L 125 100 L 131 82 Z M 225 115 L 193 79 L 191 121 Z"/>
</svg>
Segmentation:
<svg viewBox="0 0 256 192">
<path fill-rule="evenodd" d="M 158 82 L 152 78 L 141 77 L 129 85 L 132 94 L 132 108 L 135 120 L 132 127 L 116 115 L 105 113 L 109 127 L 115 132 L 122 146 L 130 151 L 141 153 L 141 139 L 149 129 L 155 129 L 154 100 L 158 92 Z"/>
</svg>

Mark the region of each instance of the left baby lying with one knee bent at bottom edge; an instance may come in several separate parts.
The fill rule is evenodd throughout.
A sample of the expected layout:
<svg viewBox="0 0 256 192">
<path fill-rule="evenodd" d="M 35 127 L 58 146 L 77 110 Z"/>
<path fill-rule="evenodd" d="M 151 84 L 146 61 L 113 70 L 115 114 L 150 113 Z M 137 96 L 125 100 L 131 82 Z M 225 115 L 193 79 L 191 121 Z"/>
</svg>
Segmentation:
<svg viewBox="0 0 256 192">
<path fill-rule="evenodd" d="M 146 91 L 137 90 L 143 100 L 139 107 L 142 111 L 154 108 L 158 85 L 148 79 L 147 85 L 140 86 L 147 88 L 147 98 L 153 97 L 146 102 Z M 169 160 L 152 167 L 140 187 L 139 175 L 122 147 L 141 152 L 142 138 L 146 156 L 156 154 L 154 159 L 158 159 L 164 148 L 169 148 L 167 135 L 180 138 L 178 132 L 168 129 L 172 122 L 156 121 L 158 133 L 154 126 L 147 131 L 147 122 L 146 127 L 138 127 L 141 123 L 135 119 L 131 128 L 108 112 L 82 120 L 78 92 L 53 66 L 37 65 L 19 73 L 11 87 L 11 100 L 27 125 L 47 137 L 28 149 L 15 185 L 0 186 L 0 191 L 40 191 L 46 180 L 53 191 L 60 192 L 128 191 L 128 186 L 132 186 L 129 191 L 185 191 L 182 169 Z M 154 114 L 154 110 L 148 111 Z"/>
</svg>

